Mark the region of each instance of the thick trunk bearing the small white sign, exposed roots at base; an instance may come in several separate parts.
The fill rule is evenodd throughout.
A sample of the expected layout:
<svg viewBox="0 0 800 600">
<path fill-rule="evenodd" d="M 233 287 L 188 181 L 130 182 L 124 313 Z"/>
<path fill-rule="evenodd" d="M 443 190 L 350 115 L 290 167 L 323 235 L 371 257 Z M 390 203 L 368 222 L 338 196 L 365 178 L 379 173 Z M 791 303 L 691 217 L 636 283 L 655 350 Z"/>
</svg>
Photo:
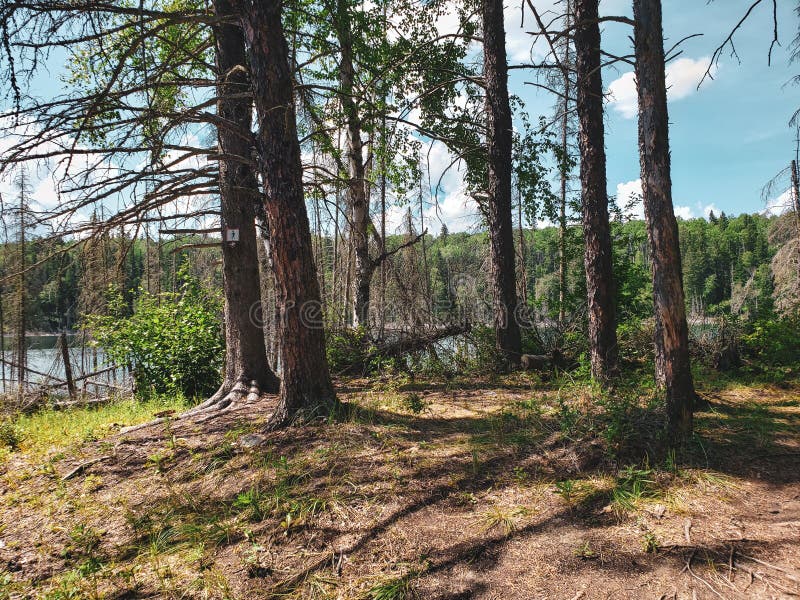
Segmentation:
<svg viewBox="0 0 800 600">
<path fill-rule="evenodd" d="M 219 17 L 233 15 L 229 0 L 215 0 Z M 234 23 L 215 28 L 217 62 L 217 114 L 231 128 L 217 128 L 219 192 L 223 233 L 238 229 L 239 241 L 223 237 L 222 271 L 225 292 L 225 375 L 212 403 L 229 403 L 231 394 L 247 394 L 252 388 L 277 393 L 280 382 L 267 361 L 264 333 L 257 309 L 261 302 L 258 246 L 255 230 L 256 203 L 261 201 L 258 180 L 250 165 L 252 100 L 237 94 L 250 90 L 244 34 Z M 235 128 L 235 129 L 233 129 Z M 229 398 L 233 400 L 235 398 Z"/>
</svg>

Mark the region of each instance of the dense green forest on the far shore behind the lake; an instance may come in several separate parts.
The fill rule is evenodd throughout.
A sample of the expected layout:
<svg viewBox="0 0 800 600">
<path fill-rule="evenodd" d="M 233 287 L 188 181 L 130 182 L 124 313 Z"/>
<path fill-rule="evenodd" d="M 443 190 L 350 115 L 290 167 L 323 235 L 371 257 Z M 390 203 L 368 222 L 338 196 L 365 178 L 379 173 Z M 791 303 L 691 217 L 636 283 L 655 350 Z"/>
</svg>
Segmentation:
<svg viewBox="0 0 800 600">
<path fill-rule="evenodd" d="M 787 244 L 793 243 L 792 216 L 728 217 L 724 212 L 719 216 L 712 212 L 709 219 L 679 221 L 687 312 L 692 319 L 738 316 L 756 320 L 781 312 L 784 298 L 793 291 L 793 274 L 785 272 Z M 410 218 L 407 227 L 406 234 L 394 236 L 389 245 L 397 246 L 404 238 L 418 235 Z M 646 318 L 652 310 L 652 283 L 645 224 L 618 218 L 612 227 L 618 320 Z M 522 231 L 521 243 L 519 229 L 515 233 L 517 261 L 525 269 L 518 284 L 521 297 L 540 319 L 555 321 L 560 308 L 558 228 Z M 569 227 L 567 232 L 564 308 L 572 319 L 579 319 L 585 312 L 586 294 L 583 238 L 578 227 Z M 34 237 L 25 245 L 25 262 L 33 265 L 24 278 L 27 329 L 75 332 L 87 316 L 107 314 L 113 292 L 122 295 L 124 312 L 130 314 L 142 294 L 180 291 L 186 275 L 200 282 L 206 294 L 219 297 L 220 251 L 213 246 L 220 243 L 219 237 L 213 236 L 169 235 L 145 240 L 107 233 L 76 246 L 63 239 Z M 353 266 L 347 244 L 319 235 L 313 243 L 327 323 L 333 328 L 350 325 L 344 294 Z M 12 274 L 18 260 L 19 244 L 3 244 L 0 277 Z M 488 322 L 487 260 L 488 239 L 483 231 L 448 233 L 443 228 L 437 235 L 425 235 L 423 243 L 402 250 L 389 261 L 382 297 L 393 313 L 386 319 L 397 326 L 412 323 L 414 313 L 417 319 L 423 315 L 432 322 L 469 310 L 465 316 L 476 324 Z M 13 277 L 3 286 L 2 313 L 9 334 L 15 330 L 19 290 Z M 269 301 L 268 290 L 264 298 Z M 406 314 L 398 314 L 403 311 Z"/>
</svg>

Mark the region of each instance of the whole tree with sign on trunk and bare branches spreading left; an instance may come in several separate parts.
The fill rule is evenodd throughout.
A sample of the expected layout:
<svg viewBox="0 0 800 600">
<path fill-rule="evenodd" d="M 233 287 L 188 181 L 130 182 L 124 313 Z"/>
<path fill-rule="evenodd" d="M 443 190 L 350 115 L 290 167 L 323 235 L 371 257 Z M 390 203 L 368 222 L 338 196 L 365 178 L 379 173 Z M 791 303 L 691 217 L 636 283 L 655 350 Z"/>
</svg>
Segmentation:
<svg viewBox="0 0 800 600">
<path fill-rule="evenodd" d="M 113 161 L 116 169 L 100 171 L 107 176 L 93 176 L 91 169 L 79 176 L 65 176 L 73 189 L 65 190 L 63 211 L 102 203 L 130 190 L 131 206 L 120 208 L 107 219 L 101 213 L 99 220 L 93 219 L 90 230 L 94 238 L 104 240 L 105 232 L 114 225 L 135 223 L 136 231 L 140 231 L 144 224 L 148 290 L 153 270 L 148 211 L 176 199 L 188 198 L 195 205 L 204 198 L 219 201 L 219 211 L 201 208 L 195 215 L 218 213 L 221 225 L 239 234 L 236 243 L 224 244 L 221 250 L 225 376 L 217 393 L 191 414 L 223 408 L 244 395 L 277 392 L 278 379 L 267 361 L 263 332 L 253 319 L 260 299 L 255 207 L 261 195 L 251 157 L 252 98 L 243 34 L 228 0 L 215 2 L 213 13 L 198 9 L 191 1 L 173 3 L 164 11 L 160 8 L 158 2 L 142 4 L 137 11 L 91 1 L 76 5 L 75 10 L 53 7 L 52 12 L 37 12 L 36 6 L 31 8 L 35 27 L 27 34 L 29 38 L 19 33 L 20 38 L 12 41 L 21 48 L 26 44 L 66 47 L 74 59 L 70 63 L 72 86 L 56 102 L 34 101 L 19 110 L 23 122 L 28 120 L 31 129 L 41 133 L 23 139 L 5 158 L 35 158 L 37 152 L 49 151 L 48 144 L 58 140 L 64 148 L 59 158 L 70 164 L 77 144 L 83 146 L 79 153 L 100 157 L 93 159 L 95 165 L 102 167 L 103 161 Z M 25 7 L 15 10 L 24 12 Z M 91 13 L 97 18 L 91 19 Z M 57 35 L 51 31 L 50 37 L 44 37 L 40 28 L 49 28 Z M 211 86 L 217 93 L 210 100 L 189 102 L 196 98 L 190 90 Z M 216 112 L 207 111 L 214 105 Z M 187 129 L 192 131 L 196 123 L 215 129 L 216 147 L 185 141 Z M 125 168 L 128 157 L 142 155 L 147 156 L 144 169 L 138 165 Z M 189 161 L 198 155 L 213 160 L 196 167 Z M 75 185 L 76 180 L 83 185 Z M 137 189 L 142 184 L 144 194 Z M 101 210 L 104 207 L 101 204 Z M 172 218 L 183 212 L 176 207 L 172 210 L 177 213 Z M 52 216 L 59 214 L 63 213 Z M 87 246 L 91 249 L 92 245 L 90 240 Z M 121 260 L 119 257 L 118 264 Z M 106 288 L 101 285 L 90 290 L 96 296 L 104 294 Z M 97 312 L 96 306 L 93 308 L 92 312 Z"/>
</svg>

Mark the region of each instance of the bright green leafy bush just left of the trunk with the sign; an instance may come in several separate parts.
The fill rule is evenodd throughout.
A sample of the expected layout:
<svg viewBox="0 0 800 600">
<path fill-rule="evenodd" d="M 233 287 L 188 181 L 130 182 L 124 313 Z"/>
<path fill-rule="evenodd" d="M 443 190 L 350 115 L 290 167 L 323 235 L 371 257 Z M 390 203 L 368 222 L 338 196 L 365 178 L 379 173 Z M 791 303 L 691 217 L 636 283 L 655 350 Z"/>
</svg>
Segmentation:
<svg viewBox="0 0 800 600">
<path fill-rule="evenodd" d="M 110 314 L 90 316 L 86 328 L 113 362 L 133 368 L 140 392 L 206 396 L 221 379 L 220 301 L 187 273 L 179 276 L 180 292 L 142 292 L 130 315 L 122 295 L 112 291 Z"/>
</svg>

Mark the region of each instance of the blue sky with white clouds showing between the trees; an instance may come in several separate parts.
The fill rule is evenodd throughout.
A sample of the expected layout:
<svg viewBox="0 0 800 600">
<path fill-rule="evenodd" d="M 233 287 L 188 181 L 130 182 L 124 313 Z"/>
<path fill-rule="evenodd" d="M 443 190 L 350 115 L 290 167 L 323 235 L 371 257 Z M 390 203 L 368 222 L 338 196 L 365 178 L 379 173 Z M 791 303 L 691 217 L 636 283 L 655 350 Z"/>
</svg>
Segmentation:
<svg viewBox="0 0 800 600">
<path fill-rule="evenodd" d="M 552 9 L 556 0 L 533 0 L 542 11 Z M 706 216 L 711 208 L 728 214 L 764 210 L 763 186 L 784 169 L 795 152 L 796 130 L 789 119 L 800 108 L 800 87 L 789 82 L 800 74 L 800 63 L 790 64 L 791 45 L 800 18 L 793 10 L 796 0 L 778 0 L 780 46 L 767 64 L 772 38 L 771 2 L 764 0 L 736 34 L 735 43 L 741 63 L 725 52 L 713 81 L 706 80 L 697 90 L 697 83 L 708 65 L 714 49 L 738 22 L 752 0 L 663 0 L 664 30 L 667 47 L 691 34 L 703 34 L 682 45 L 683 53 L 668 67 L 670 90 L 670 137 L 672 147 L 673 200 L 676 214 L 683 218 Z M 533 19 L 526 15 L 520 28 L 519 2 L 506 6 L 506 30 L 511 63 L 541 60 L 545 54 L 542 42 L 531 50 Z M 631 16 L 630 0 L 602 0 L 604 15 Z M 526 11 L 527 12 L 527 11 Z M 442 26 L 454 25 L 454 16 L 444 17 Z M 447 21 L 451 21 L 449 26 Z M 603 28 L 603 46 L 615 54 L 632 53 L 626 25 L 607 23 Z M 59 73 L 63 53 L 54 52 L 48 66 L 50 73 L 40 73 L 33 85 L 34 93 L 51 97 L 61 90 Z M 633 68 L 622 64 L 603 71 L 603 83 L 613 92 L 606 106 L 606 146 L 608 154 L 609 194 L 626 196 L 639 188 L 639 159 L 635 114 Z M 511 91 L 522 97 L 531 120 L 551 115 L 554 100 L 532 86 L 531 72 L 515 70 Z M 442 147 L 430 148 L 431 178 L 439 175 L 452 157 Z M 0 186 L 2 187 L 2 186 Z M 776 195 L 788 188 L 788 182 Z M 474 203 L 465 196 L 461 175 L 450 170 L 442 179 L 442 192 L 436 206 L 427 210 L 432 231 L 438 223 L 447 223 L 451 231 L 472 229 L 479 222 Z M 43 179 L 34 196 L 44 206 L 58 203 L 53 184 Z M 781 204 L 785 201 L 786 195 Z M 387 218 L 390 228 L 402 228 L 404 207 L 391 209 Z M 433 220 L 433 223 L 431 223 Z"/>
</svg>

